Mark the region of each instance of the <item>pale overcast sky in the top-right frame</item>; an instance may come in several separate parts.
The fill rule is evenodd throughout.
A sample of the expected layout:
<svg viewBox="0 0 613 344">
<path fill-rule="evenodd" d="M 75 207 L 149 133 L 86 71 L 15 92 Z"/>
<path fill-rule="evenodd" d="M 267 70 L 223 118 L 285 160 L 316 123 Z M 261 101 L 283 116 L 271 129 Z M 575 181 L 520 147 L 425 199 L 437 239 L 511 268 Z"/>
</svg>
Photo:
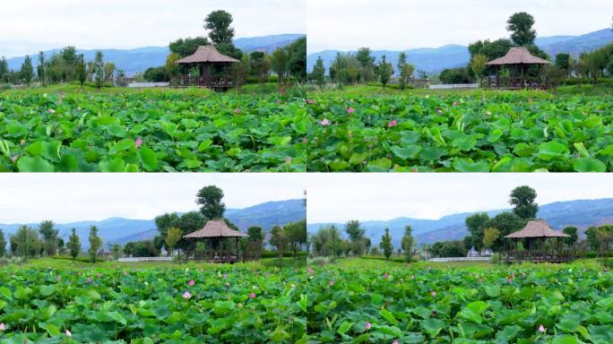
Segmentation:
<svg viewBox="0 0 613 344">
<path fill-rule="evenodd" d="M 611 0 L 307 0 L 307 51 L 404 50 L 508 37 L 511 14 L 534 16 L 537 35 L 608 28 Z"/>
</svg>

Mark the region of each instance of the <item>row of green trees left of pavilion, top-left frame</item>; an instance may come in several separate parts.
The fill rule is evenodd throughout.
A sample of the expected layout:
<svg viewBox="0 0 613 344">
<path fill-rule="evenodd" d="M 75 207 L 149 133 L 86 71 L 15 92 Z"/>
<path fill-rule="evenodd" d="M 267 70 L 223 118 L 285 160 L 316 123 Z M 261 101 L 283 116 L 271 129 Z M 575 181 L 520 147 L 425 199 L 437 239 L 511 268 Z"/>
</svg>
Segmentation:
<svg viewBox="0 0 613 344">
<path fill-rule="evenodd" d="M 34 67 L 36 64 L 36 68 Z M 19 71 L 10 71 L 6 59 L 0 60 L 0 82 L 26 84 L 39 82 L 41 86 L 49 83 L 93 82 L 101 88 L 105 83 L 114 84 L 125 79 L 125 72 L 117 70 L 112 62 L 104 62 L 101 51 L 96 52 L 93 60 L 86 62 L 82 54 L 77 54 L 75 47 L 65 47 L 48 57 L 39 52 L 36 62 L 25 56 Z"/>
</svg>

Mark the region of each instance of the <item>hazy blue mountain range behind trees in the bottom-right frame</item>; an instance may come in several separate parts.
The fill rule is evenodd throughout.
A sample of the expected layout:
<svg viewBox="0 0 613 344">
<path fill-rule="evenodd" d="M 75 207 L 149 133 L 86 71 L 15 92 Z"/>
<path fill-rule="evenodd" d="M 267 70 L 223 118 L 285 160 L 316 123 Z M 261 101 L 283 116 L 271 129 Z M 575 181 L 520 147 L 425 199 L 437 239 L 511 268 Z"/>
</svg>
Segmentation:
<svg viewBox="0 0 613 344">
<path fill-rule="evenodd" d="M 510 211 L 510 209 L 487 212 L 490 217 L 493 217 L 503 211 Z M 384 229 L 390 228 L 393 245 L 399 247 L 404 227 L 407 225 L 413 228 L 413 236 L 416 237 L 418 245 L 423 245 L 432 244 L 436 241 L 462 239 L 468 234 L 464 220 L 476 212 L 478 211 L 451 214 L 440 219 L 405 217 L 389 220 L 360 219 L 360 223 L 362 228 L 366 229 L 366 236 L 371 239 L 373 245 L 378 245 Z M 562 229 L 566 226 L 579 228 L 580 236 L 583 236 L 585 229 L 590 226 L 613 223 L 613 198 L 543 204 L 540 205 L 537 216 L 540 219 L 545 219 L 549 226 L 554 229 Z M 313 234 L 319 228 L 328 225 L 334 225 L 341 231 L 344 228 L 343 223 L 307 223 L 307 231 Z"/>
</svg>

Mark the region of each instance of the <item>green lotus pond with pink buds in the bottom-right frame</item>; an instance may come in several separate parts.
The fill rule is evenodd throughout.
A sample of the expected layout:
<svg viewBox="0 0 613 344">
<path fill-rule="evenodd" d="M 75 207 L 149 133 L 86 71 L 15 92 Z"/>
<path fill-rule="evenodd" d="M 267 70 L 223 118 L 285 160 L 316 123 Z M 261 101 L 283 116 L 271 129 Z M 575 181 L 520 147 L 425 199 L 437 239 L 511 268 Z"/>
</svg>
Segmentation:
<svg viewBox="0 0 613 344">
<path fill-rule="evenodd" d="M 356 266 L 308 268 L 313 343 L 613 342 L 602 268 Z"/>
</svg>

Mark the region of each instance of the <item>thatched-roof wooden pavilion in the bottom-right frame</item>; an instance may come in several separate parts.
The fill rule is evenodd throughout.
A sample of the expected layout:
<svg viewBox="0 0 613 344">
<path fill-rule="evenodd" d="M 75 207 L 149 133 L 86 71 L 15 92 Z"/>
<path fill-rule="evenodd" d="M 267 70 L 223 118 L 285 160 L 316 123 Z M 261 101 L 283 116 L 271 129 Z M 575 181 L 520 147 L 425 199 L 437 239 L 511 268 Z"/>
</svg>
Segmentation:
<svg viewBox="0 0 613 344">
<path fill-rule="evenodd" d="M 514 248 L 508 247 L 505 256 L 502 257 L 504 262 L 569 262 L 573 260 L 573 252 L 565 251 L 560 246 L 560 238 L 569 237 L 561 231 L 554 230 L 549 227 L 543 219 L 534 219 L 528 222 L 526 226 L 514 233 L 511 233 L 505 238 L 513 239 L 515 242 Z M 554 243 L 548 243 L 548 239 L 554 239 Z M 519 250 L 519 243 L 522 241 L 523 250 Z"/>
</svg>

